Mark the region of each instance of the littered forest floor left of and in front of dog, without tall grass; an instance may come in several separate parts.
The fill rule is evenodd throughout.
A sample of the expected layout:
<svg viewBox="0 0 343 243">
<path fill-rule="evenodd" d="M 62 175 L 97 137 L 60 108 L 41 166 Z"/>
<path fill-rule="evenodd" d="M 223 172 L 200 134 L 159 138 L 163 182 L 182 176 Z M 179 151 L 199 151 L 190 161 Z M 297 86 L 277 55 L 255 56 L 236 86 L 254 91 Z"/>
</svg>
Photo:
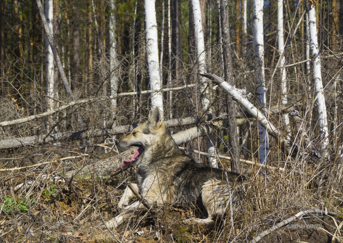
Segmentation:
<svg viewBox="0 0 343 243">
<path fill-rule="evenodd" d="M 68 149 L 68 148 L 66 148 Z M 64 150 L 65 151 L 65 150 Z M 75 152 L 62 157 L 62 150 L 16 160 L 11 166 L 45 163 L 32 168 L 0 172 L 0 242 L 249 242 L 258 233 L 285 219 L 275 212 L 256 209 L 255 217 L 237 219 L 234 233 L 227 222 L 216 227 L 189 226 L 182 220 L 194 217 L 189 209 L 166 206 L 157 212 L 132 217 L 118 229 L 107 230 L 104 222 L 118 214 L 117 203 L 134 182 L 134 171 L 113 174 L 131 151 L 90 157 Z M 38 158 L 39 157 L 39 158 Z M 75 157 L 75 158 L 71 158 Z M 1 162 L 1 161 L 0 161 Z M 2 164 L 1 168 L 10 168 Z M 266 236 L 261 242 L 339 242 L 343 239 L 340 216 L 315 216 L 297 220 Z M 267 210 L 266 210 L 267 211 Z M 288 209 L 288 217 L 297 213 Z M 236 219 L 235 219 L 236 220 Z M 243 222 L 242 222 L 243 221 Z M 254 223 L 255 222 L 255 223 Z M 259 223 L 258 223 L 259 222 Z M 244 227 L 244 228 L 242 228 Z"/>
</svg>

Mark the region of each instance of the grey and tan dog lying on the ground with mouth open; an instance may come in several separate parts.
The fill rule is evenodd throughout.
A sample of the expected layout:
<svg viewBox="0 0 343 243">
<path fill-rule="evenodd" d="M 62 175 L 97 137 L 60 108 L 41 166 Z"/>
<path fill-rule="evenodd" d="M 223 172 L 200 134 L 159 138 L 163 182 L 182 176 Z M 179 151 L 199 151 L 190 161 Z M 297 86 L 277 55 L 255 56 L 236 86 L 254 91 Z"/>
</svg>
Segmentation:
<svg viewBox="0 0 343 243">
<path fill-rule="evenodd" d="M 245 177 L 197 163 L 182 153 L 166 132 L 158 107 L 149 112 L 145 123 L 136 127 L 131 134 L 119 138 L 116 144 L 120 148 L 139 147 L 140 153 L 135 154 L 139 153 L 139 156 L 126 162 L 137 166 L 137 185 L 134 186 L 150 204 L 162 206 L 169 203 L 191 208 L 203 205 L 208 218 L 190 220 L 211 223 L 214 216 L 226 214 L 230 193 L 234 204 L 239 198 L 238 191 Z M 125 208 L 108 222 L 108 226 L 117 227 L 135 210 L 144 208 L 140 202 L 128 205 L 130 196 L 133 194 L 127 188 L 118 203 L 119 208 Z"/>
</svg>

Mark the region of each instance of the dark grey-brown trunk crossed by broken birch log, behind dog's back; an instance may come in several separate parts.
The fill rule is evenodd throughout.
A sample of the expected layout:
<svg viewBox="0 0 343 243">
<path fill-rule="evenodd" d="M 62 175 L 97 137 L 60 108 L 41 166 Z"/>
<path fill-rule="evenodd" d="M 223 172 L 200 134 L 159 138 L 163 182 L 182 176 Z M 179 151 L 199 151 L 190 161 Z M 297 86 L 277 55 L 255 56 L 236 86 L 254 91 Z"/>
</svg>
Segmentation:
<svg viewBox="0 0 343 243">
<path fill-rule="evenodd" d="M 228 13 L 228 1 L 220 1 L 220 15 L 221 15 L 221 27 L 222 27 L 222 47 L 223 47 L 223 62 L 224 62 L 224 78 L 230 82 L 230 85 L 234 86 L 233 73 L 232 73 L 232 59 L 231 59 L 231 38 L 230 38 L 230 23 Z M 236 33 L 237 34 L 237 33 Z M 240 172 L 239 162 L 239 149 L 237 142 L 237 123 L 236 123 L 236 109 L 235 102 L 232 98 L 226 94 L 226 107 L 228 114 L 228 137 L 229 146 L 228 150 L 231 155 L 231 171 Z"/>
</svg>

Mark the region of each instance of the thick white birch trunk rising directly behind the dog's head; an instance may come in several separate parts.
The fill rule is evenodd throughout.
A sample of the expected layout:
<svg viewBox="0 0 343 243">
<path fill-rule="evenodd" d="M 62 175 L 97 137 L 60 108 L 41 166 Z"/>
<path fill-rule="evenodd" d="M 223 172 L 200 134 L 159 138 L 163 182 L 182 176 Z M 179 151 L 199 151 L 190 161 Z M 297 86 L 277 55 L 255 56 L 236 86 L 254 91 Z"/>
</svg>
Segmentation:
<svg viewBox="0 0 343 243">
<path fill-rule="evenodd" d="M 157 23 L 155 0 L 144 0 L 145 8 L 145 27 L 146 27 L 146 50 L 150 76 L 151 89 L 161 89 L 161 75 L 159 74 L 158 64 L 158 42 L 157 42 Z M 163 95 L 162 92 L 151 94 L 151 106 L 156 106 L 163 114 Z"/>
</svg>

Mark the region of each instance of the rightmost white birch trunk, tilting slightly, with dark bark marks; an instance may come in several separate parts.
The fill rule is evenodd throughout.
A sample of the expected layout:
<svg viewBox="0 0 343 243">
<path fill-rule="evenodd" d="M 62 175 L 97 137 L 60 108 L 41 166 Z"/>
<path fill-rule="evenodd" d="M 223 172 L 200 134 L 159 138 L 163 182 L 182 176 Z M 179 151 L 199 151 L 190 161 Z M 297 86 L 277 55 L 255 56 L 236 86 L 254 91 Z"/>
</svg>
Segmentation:
<svg viewBox="0 0 343 243">
<path fill-rule="evenodd" d="M 323 94 L 323 83 L 320 67 L 320 53 L 318 49 L 316 11 L 314 4 L 306 2 L 306 12 L 308 16 L 308 29 L 310 37 L 310 48 L 312 54 L 313 79 L 315 83 L 316 100 L 318 105 L 318 125 L 320 127 L 320 137 L 322 139 L 321 149 L 325 149 L 329 143 L 328 117 L 326 112 L 325 97 Z M 324 153 L 325 154 L 325 153 Z"/>
</svg>

